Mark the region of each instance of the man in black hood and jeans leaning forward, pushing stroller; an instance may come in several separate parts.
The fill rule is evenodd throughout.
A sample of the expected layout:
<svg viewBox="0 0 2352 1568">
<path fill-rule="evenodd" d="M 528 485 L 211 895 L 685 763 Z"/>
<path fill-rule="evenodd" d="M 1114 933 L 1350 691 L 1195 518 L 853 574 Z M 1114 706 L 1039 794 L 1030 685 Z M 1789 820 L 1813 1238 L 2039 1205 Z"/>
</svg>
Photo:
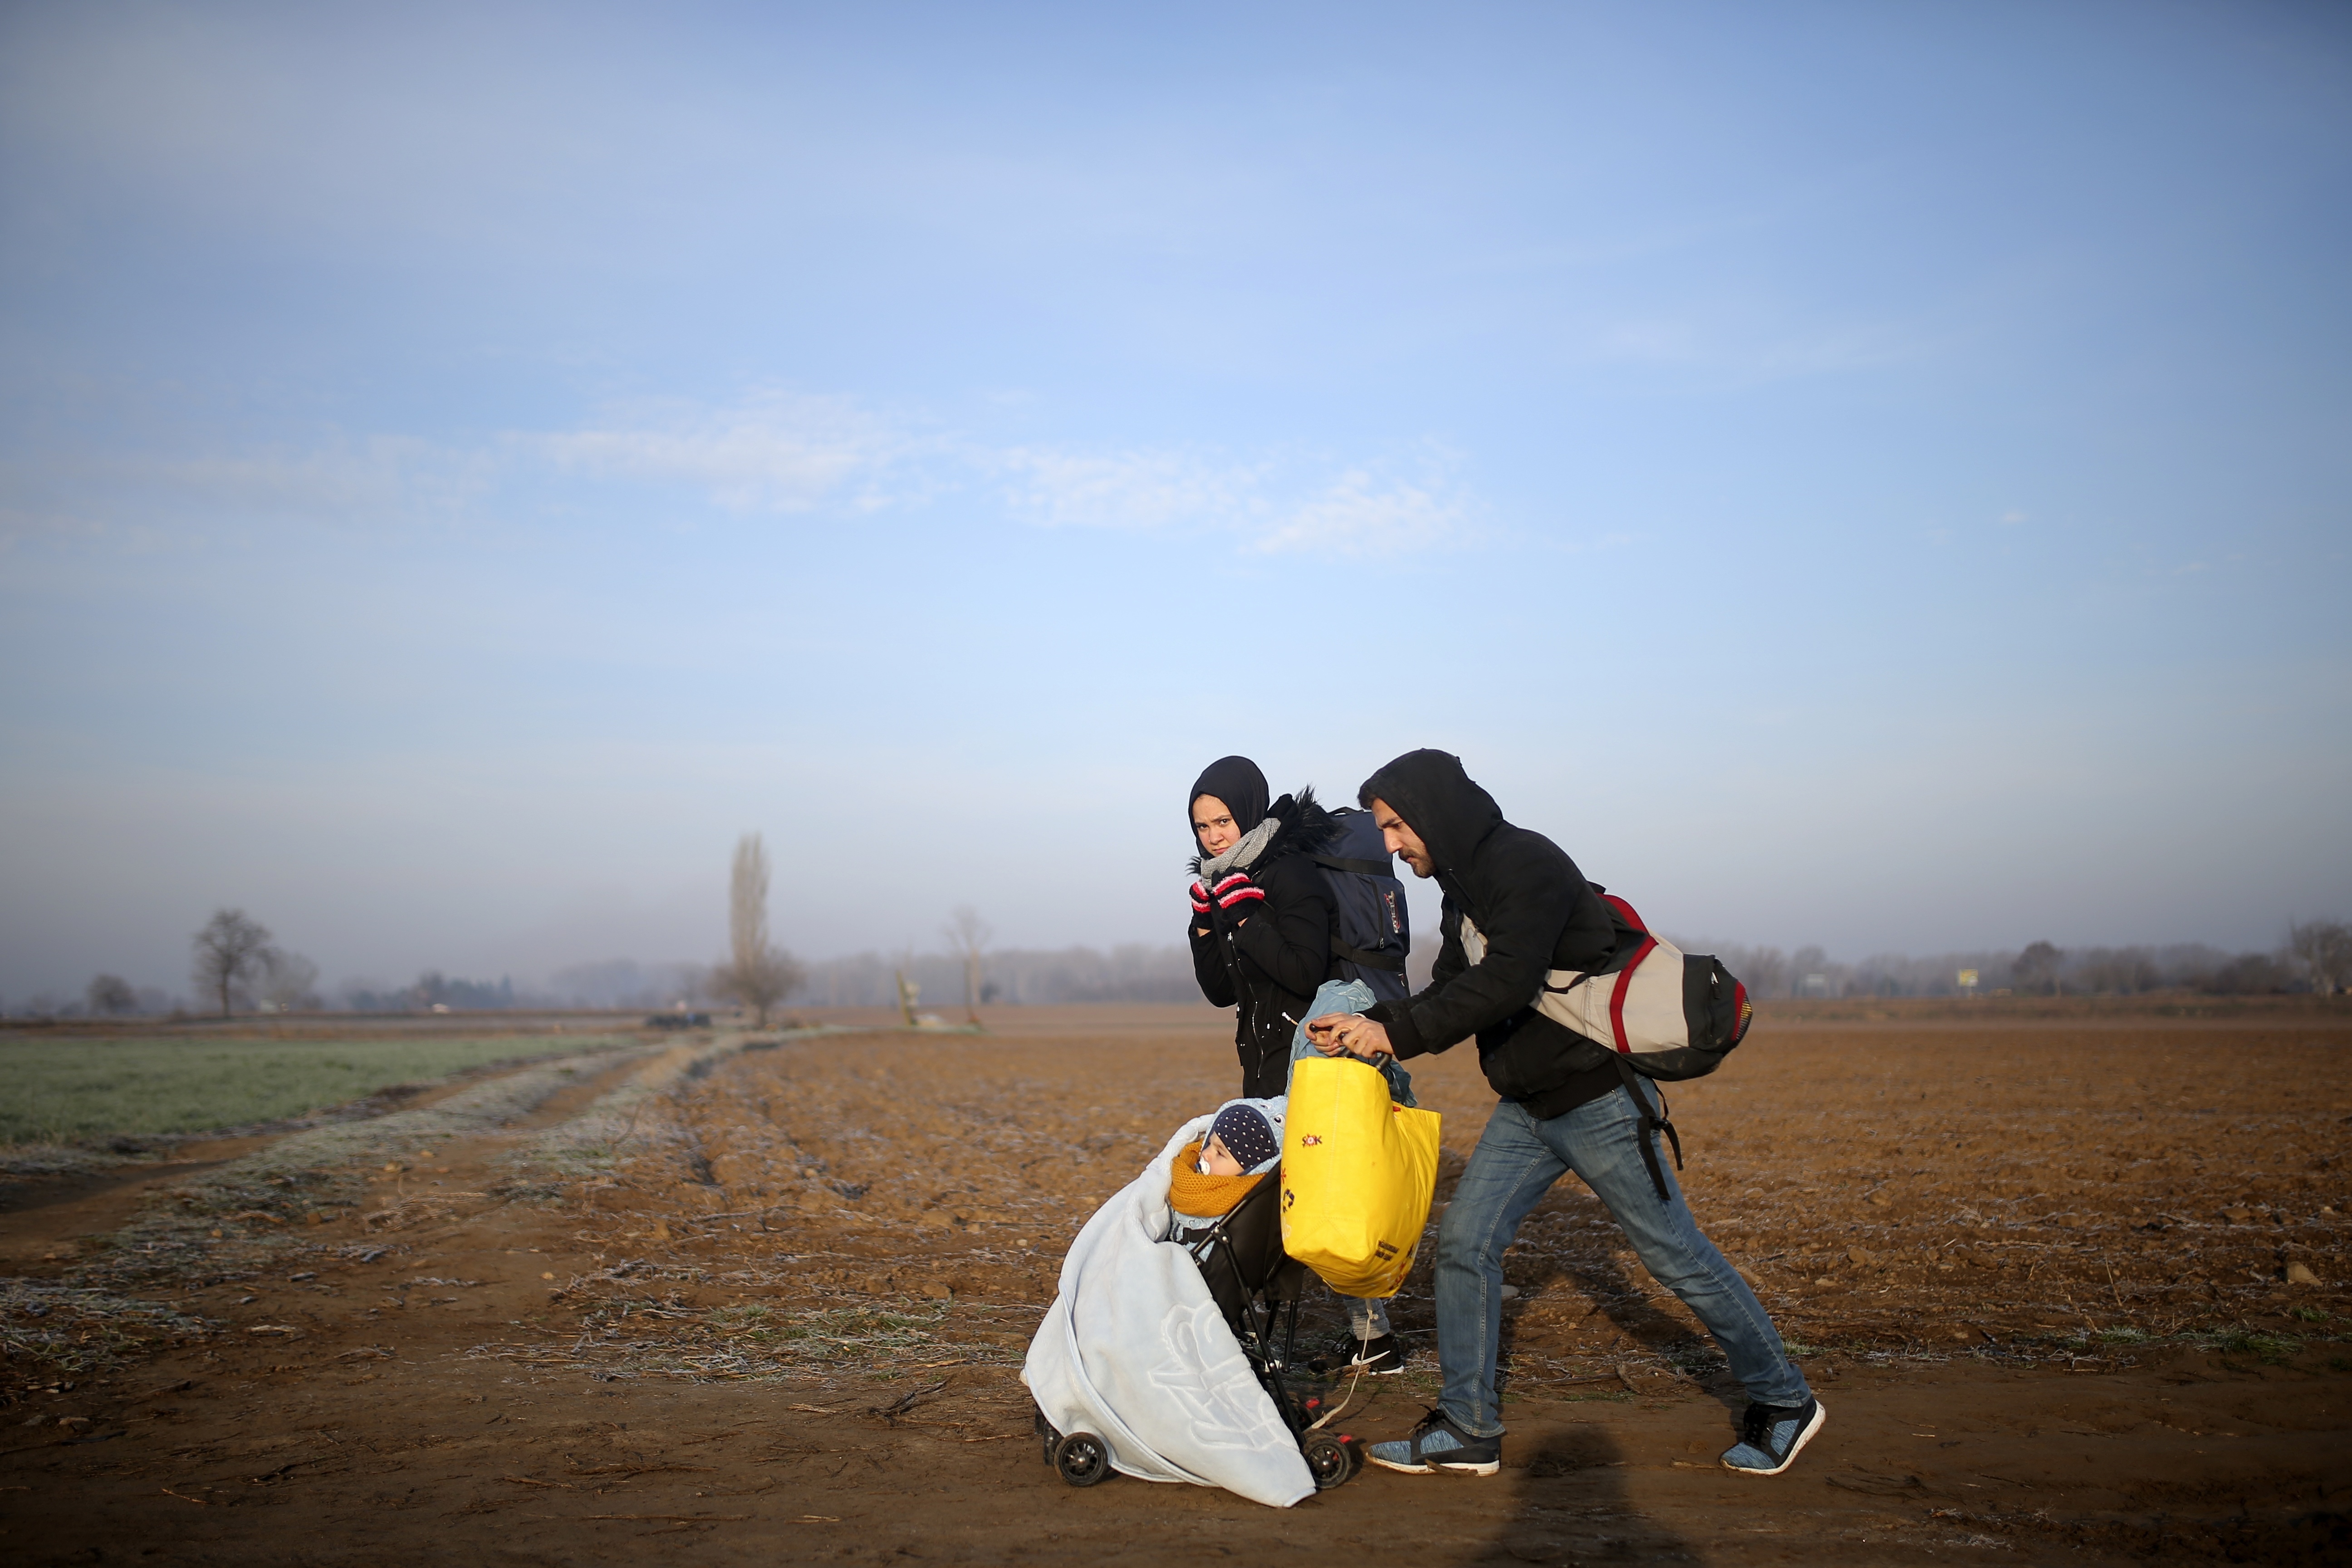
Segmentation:
<svg viewBox="0 0 2352 1568">
<path fill-rule="evenodd" d="M 1308 1020 L 1322 1051 L 1414 1058 L 1477 1037 L 1501 1095 L 1437 1229 L 1439 1403 L 1369 1460 L 1406 1474 L 1491 1476 L 1503 1420 L 1496 1349 L 1503 1251 L 1552 1182 L 1573 1171 L 1609 1208 L 1642 1265 L 1698 1314 L 1748 1389 L 1740 1441 L 1724 1467 L 1773 1476 L 1823 1425 L 1820 1401 L 1780 1349 L 1755 1291 L 1710 1244 L 1651 1147 L 1658 1091 L 1613 1051 L 1536 1011 L 1548 971 L 1604 971 L 1616 919 L 1557 844 L 1512 827 L 1446 752 L 1421 750 L 1374 773 L 1359 795 L 1395 851 L 1444 889 L 1430 985 L 1364 1013 Z M 1472 938 L 1475 952 L 1465 947 Z"/>
</svg>

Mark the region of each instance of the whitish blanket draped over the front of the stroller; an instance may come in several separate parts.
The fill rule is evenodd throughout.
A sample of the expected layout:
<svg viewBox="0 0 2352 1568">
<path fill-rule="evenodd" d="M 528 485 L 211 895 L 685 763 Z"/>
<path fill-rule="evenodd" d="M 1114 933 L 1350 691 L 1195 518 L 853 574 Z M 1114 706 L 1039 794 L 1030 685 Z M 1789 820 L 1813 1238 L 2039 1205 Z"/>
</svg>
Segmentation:
<svg viewBox="0 0 2352 1568">
<path fill-rule="evenodd" d="M 1242 1359 L 1200 1267 L 1160 1239 L 1169 1229 L 1169 1161 L 1207 1138 L 1209 1121 L 1178 1128 L 1077 1232 L 1021 1382 L 1056 1432 L 1103 1439 L 1122 1474 L 1223 1486 L 1287 1509 L 1315 1490 L 1298 1441 Z"/>
</svg>

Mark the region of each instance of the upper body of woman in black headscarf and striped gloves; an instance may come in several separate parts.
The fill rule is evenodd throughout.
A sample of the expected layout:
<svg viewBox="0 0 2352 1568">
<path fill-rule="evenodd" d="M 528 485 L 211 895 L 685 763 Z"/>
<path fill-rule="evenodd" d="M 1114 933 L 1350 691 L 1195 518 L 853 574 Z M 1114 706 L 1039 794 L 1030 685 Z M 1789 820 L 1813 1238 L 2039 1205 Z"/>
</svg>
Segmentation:
<svg viewBox="0 0 2352 1568">
<path fill-rule="evenodd" d="M 1242 1098 L 1289 1088 L 1291 1037 L 1331 978 L 1331 893 L 1308 858 L 1331 837 L 1315 790 L 1268 804 L 1249 757 L 1218 757 L 1185 797 L 1192 860 L 1192 973 L 1216 1006 L 1240 1009 L 1232 1044 Z"/>
</svg>

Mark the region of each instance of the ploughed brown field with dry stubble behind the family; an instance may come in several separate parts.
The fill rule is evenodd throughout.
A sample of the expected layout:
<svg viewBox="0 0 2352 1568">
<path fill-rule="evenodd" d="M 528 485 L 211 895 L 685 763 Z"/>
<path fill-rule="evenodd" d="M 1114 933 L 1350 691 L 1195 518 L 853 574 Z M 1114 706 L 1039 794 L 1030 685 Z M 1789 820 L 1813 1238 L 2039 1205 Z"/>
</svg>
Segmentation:
<svg viewBox="0 0 2352 1568">
<path fill-rule="evenodd" d="M 680 1081 L 567 1187 L 576 1239 L 614 1262 L 569 1286 L 588 1331 L 560 1354 L 722 1375 L 1014 1359 L 1068 1237 L 1230 1093 L 1181 1044 L 866 1037 Z M 2331 1338 L 2352 1316 L 2340 1281 L 2281 1284 L 2296 1260 L 2340 1274 L 2324 1208 L 2352 1208 L 2333 1164 L 2352 1105 L 2314 1088 L 2338 1053 L 2220 1023 L 1783 1025 L 1672 1100 L 1700 1222 L 1799 1354 L 2091 1366 L 2270 1319 Z M 1444 1199 L 1494 1098 L 1468 1051 L 1416 1063 L 1416 1086 L 1446 1114 Z M 1573 1178 L 1505 1279 L 1524 1387 L 1611 1399 L 1644 1371 L 1715 1366 Z M 2314 1316 L 2279 1316 L 2293 1305 Z M 1397 1319 L 1428 1345 L 1428 1253 Z M 1324 1307 L 1317 1331 L 1336 1321 Z"/>
</svg>

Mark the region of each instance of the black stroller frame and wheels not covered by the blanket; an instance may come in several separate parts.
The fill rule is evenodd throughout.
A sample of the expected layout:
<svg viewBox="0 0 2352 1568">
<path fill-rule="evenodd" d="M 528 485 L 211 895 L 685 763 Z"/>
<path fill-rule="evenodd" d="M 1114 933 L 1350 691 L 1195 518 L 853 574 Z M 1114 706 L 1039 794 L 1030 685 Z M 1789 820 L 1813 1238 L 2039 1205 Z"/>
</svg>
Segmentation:
<svg viewBox="0 0 2352 1568">
<path fill-rule="evenodd" d="M 1308 1267 L 1282 1251 L 1282 1168 L 1249 1190 L 1232 1213 L 1185 1241 L 1225 1326 L 1242 1345 L 1258 1387 L 1275 1401 L 1282 1425 L 1315 1476 L 1315 1490 L 1345 1486 L 1364 1467 L 1364 1446 L 1343 1432 L 1322 1432 L 1329 1387 L 1298 1361 L 1298 1293 Z M 1110 1446 L 1091 1432 L 1056 1432 L 1035 1413 L 1044 1462 L 1070 1486 L 1094 1486 L 1110 1474 Z"/>
</svg>

